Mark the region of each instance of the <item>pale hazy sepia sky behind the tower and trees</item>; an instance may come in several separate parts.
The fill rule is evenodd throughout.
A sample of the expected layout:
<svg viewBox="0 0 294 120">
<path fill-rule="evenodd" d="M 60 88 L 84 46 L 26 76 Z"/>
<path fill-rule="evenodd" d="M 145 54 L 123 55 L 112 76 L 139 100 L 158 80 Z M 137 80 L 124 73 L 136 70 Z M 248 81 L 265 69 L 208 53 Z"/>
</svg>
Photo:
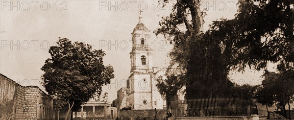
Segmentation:
<svg viewBox="0 0 294 120">
<path fill-rule="evenodd" d="M 155 36 L 161 17 L 169 15 L 172 0 L 166 7 L 157 6 L 158 0 L 68 0 L 68 1 L 5 1 L 0 11 L 0 73 L 27 86 L 36 85 L 44 73 L 40 68 L 50 57 L 49 46 L 58 37 L 85 42 L 105 51 L 105 65 L 112 65 L 115 78 L 103 87 L 114 100 L 117 90 L 126 86 L 130 74 L 131 32 L 139 22 L 139 8 L 143 23 L 151 30 L 153 66 L 167 67 L 167 53 L 172 48 L 163 36 Z M 49 7 L 48 7 L 49 6 Z M 232 19 L 237 13 L 237 0 L 203 0 L 207 8 L 204 30 L 220 18 Z M 239 84 L 261 83 L 262 72 L 246 70 L 244 74 L 231 73 Z M 102 94 L 103 94 L 102 93 Z"/>
</svg>

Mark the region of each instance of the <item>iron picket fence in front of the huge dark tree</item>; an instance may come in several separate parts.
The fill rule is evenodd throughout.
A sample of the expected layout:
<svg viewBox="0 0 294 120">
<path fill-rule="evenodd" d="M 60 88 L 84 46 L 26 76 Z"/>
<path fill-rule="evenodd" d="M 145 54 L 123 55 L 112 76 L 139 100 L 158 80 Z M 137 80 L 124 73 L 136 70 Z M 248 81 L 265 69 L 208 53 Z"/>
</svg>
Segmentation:
<svg viewBox="0 0 294 120">
<path fill-rule="evenodd" d="M 172 101 L 176 117 L 227 117 L 258 115 L 257 106 L 242 98 L 200 98 Z"/>
</svg>

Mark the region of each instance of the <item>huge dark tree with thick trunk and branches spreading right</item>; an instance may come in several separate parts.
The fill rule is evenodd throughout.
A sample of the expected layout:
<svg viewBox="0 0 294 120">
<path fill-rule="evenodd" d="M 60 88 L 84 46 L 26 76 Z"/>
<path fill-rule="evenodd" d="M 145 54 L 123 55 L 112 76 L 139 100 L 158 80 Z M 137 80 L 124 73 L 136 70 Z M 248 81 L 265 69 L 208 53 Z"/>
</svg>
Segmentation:
<svg viewBox="0 0 294 120">
<path fill-rule="evenodd" d="M 170 16 L 159 23 L 155 33 L 174 46 L 170 68 L 186 71 L 182 81 L 187 98 L 231 96 L 231 70 L 244 71 L 248 66 L 260 70 L 269 62 L 293 68 L 294 1 L 239 0 L 238 4 L 235 19 L 215 21 L 204 33 L 199 0 L 177 0 Z"/>
</svg>

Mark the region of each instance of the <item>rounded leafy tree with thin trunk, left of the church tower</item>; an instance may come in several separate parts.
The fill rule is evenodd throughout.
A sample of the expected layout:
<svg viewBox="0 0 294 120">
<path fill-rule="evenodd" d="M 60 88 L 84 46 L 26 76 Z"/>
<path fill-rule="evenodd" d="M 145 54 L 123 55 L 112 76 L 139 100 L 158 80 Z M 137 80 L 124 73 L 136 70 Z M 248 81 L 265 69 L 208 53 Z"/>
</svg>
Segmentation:
<svg viewBox="0 0 294 120">
<path fill-rule="evenodd" d="M 49 49 L 51 58 L 41 68 L 44 87 L 53 98 L 62 99 L 58 106 L 68 105 L 65 120 L 72 110 L 77 110 L 95 95 L 101 94 L 101 86 L 114 78 L 112 66 L 103 65 L 102 50 L 92 46 L 59 38 L 57 46 Z M 58 107 L 58 108 L 60 108 Z"/>
</svg>

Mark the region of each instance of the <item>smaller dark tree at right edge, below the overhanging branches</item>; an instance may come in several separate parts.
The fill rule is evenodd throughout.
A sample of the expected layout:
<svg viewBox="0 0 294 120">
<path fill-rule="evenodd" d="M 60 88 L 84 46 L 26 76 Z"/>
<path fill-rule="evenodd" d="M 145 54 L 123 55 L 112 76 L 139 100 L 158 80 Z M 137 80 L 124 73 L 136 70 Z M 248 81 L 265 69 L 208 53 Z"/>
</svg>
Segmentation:
<svg viewBox="0 0 294 120">
<path fill-rule="evenodd" d="M 290 114 L 290 103 L 293 102 L 294 98 L 294 71 L 288 70 L 278 73 L 265 71 L 263 74 L 265 78 L 263 80 L 263 88 L 257 94 L 258 102 L 262 104 L 271 105 L 273 102 L 278 102 L 283 106 L 283 114 L 286 115 L 286 105 L 289 107 L 289 116 Z"/>
</svg>

